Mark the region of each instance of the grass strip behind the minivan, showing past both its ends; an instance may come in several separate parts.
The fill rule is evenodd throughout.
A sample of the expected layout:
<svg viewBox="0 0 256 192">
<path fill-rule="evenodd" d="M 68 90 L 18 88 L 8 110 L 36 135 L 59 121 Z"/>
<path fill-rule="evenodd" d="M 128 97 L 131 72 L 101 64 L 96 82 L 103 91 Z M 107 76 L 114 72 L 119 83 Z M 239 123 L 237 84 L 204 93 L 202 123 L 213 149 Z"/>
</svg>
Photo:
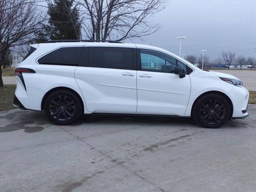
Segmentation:
<svg viewBox="0 0 256 192">
<path fill-rule="evenodd" d="M 15 109 L 12 105 L 16 85 L 4 85 L 0 88 L 0 111 Z M 256 91 L 249 91 L 249 103 L 256 104 Z"/>
</svg>

